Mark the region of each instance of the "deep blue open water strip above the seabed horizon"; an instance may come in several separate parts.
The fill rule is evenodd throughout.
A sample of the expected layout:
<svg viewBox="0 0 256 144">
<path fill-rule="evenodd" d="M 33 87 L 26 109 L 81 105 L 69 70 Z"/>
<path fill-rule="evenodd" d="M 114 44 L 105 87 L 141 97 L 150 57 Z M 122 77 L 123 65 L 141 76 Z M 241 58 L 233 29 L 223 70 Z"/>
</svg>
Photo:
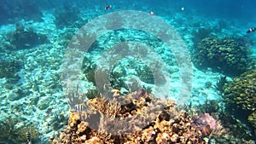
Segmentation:
<svg viewBox="0 0 256 144">
<path fill-rule="evenodd" d="M 215 0 L 213 2 L 205 3 L 203 0 L 196 0 L 193 2 L 182 0 L 182 1 L 140 1 L 134 2 L 128 1 L 111 1 L 111 0 L 100 0 L 100 1 L 67 1 L 67 0 L 55 0 L 55 1 L 38 1 L 34 2 L 32 0 L 27 1 L 1 1 L 1 20 L 6 20 L 9 17 L 20 17 L 29 15 L 29 12 L 39 10 L 53 10 L 60 7 L 63 3 L 67 3 L 69 6 L 76 6 L 77 9 L 94 9 L 95 7 L 104 8 L 107 4 L 112 4 L 114 6 L 113 11 L 121 9 L 134 9 L 134 10 L 146 10 L 152 9 L 158 11 L 164 15 L 172 15 L 175 13 L 175 9 L 181 7 L 186 8 L 188 12 L 195 11 L 197 14 L 207 14 L 207 16 L 212 17 L 222 17 L 225 19 L 237 19 L 242 20 L 245 23 L 255 20 L 255 15 L 253 14 L 254 2 L 253 0 L 239 0 L 233 1 L 221 1 Z M 19 10 L 24 12 L 24 15 L 19 13 Z M 15 12 L 16 11 L 16 12 Z M 172 13 L 163 13 L 164 11 L 170 11 Z M 27 13 L 26 13 L 27 12 Z M 15 14 L 16 15 L 12 15 Z M 214 18 L 212 17 L 212 18 Z"/>
</svg>

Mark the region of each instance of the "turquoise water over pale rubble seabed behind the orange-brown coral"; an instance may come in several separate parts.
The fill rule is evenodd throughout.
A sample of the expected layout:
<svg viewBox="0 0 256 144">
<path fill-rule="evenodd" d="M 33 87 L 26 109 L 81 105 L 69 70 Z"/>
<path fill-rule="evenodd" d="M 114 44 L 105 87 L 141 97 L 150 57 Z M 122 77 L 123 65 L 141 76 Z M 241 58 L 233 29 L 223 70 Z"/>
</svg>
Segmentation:
<svg viewBox="0 0 256 144">
<path fill-rule="evenodd" d="M 148 89 L 191 109 L 216 101 L 215 114 L 231 113 L 241 121 L 245 131 L 237 133 L 247 136 L 237 139 L 255 140 L 248 111 L 229 112 L 218 89 L 221 77 L 231 83 L 255 69 L 256 32 L 247 33 L 256 26 L 254 5 L 241 0 L 1 1 L 0 124 L 9 127 L 0 131 L 9 136 L 0 136 L 0 143 L 26 143 L 26 131 L 33 130 L 38 132 L 34 143 L 47 143 L 67 125 L 71 107 L 87 101 L 95 89 L 108 99 L 113 99 L 111 89 L 121 95 Z M 203 43 L 206 37 L 219 43 Z M 224 43 L 224 37 L 234 43 Z M 73 91 L 87 97 L 71 101 Z M 255 93 L 252 97 L 248 101 Z"/>
</svg>

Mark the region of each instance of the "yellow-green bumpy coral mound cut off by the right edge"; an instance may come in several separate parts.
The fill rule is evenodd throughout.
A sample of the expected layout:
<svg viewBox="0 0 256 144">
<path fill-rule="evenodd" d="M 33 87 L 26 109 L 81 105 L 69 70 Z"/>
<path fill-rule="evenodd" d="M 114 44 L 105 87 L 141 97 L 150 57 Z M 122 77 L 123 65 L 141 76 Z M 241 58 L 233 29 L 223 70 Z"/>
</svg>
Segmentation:
<svg viewBox="0 0 256 144">
<path fill-rule="evenodd" d="M 224 101 L 231 111 L 246 117 L 254 130 L 256 107 L 256 70 L 244 72 L 224 88 Z M 249 116 L 250 115 L 250 116 Z"/>
</svg>

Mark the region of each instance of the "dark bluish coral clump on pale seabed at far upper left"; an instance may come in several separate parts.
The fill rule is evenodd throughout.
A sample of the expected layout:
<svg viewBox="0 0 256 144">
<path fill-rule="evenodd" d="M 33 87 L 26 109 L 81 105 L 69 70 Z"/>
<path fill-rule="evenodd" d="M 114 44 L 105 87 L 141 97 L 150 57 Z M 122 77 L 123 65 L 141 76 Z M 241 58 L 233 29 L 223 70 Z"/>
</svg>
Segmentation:
<svg viewBox="0 0 256 144">
<path fill-rule="evenodd" d="M 47 37 L 44 34 L 34 32 L 32 29 L 26 30 L 20 23 L 16 23 L 15 32 L 9 33 L 7 40 L 12 45 L 12 49 L 27 49 L 45 43 Z"/>
</svg>

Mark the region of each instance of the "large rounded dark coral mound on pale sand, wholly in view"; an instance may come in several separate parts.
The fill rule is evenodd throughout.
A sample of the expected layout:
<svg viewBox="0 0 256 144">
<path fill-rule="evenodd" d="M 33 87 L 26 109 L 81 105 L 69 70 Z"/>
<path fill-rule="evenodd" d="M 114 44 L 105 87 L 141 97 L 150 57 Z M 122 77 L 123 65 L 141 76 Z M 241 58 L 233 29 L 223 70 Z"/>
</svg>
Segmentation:
<svg viewBox="0 0 256 144">
<path fill-rule="evenodd" d="M 211 67 L 225 75 L 237 76 L 253 69 L 250 48 L 245 37 L 206 37 L 196 44 L 193 61 L 198 68 Z"/>
</svg>

